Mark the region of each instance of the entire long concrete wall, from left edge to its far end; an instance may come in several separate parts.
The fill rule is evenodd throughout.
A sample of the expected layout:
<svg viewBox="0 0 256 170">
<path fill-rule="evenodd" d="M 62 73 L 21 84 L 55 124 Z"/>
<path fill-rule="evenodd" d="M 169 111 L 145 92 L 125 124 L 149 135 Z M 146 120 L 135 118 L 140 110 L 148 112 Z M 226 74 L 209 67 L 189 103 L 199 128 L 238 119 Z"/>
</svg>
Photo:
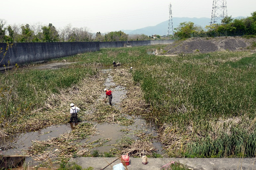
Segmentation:
<svg viewBox="0 0 256 170">
<path fill-rule="evenodd" d="M 99 51 L 101 48 L 136 47 L 154 44 L 170 44 L 175 40 L 114 41 L 114 42 L 47 42 L 13 43 L 6 51 L 7 44 L 0 43 L 0 68 L 12 67 L 31 62 L 72 56 L 78 53 Z M 5 53 L 6 52 L 6 53 Z M 5 56 L 4 56 L 5 53 Z"/>
</svg>

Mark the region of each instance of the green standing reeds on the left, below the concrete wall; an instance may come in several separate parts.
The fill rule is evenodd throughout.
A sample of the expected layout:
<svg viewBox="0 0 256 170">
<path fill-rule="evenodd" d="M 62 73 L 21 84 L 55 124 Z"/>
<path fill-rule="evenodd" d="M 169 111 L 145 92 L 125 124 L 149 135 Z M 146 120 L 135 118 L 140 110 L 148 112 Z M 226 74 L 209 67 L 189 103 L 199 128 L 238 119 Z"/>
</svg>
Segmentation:
<svg viewBox="0 0 256 170">
<path fill-rule="evenodd" d="M 0 75 L 0 123 L 18 115 L 29 115 L 31 110 L 44 106 L 51 94 L 59 93 L 60 89 L 95 74 L 94 68 L 81 66 L 49 70 L 8 70 Z"/>
</svg>

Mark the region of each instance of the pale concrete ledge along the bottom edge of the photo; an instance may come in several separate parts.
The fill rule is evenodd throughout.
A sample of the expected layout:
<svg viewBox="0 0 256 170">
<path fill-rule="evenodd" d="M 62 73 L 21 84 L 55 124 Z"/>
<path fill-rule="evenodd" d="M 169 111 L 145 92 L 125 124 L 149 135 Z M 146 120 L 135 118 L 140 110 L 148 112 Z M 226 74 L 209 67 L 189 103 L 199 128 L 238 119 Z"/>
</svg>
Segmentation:
<svg viewBox="0 0 256 170">
<path fill-rule="evenodd" d="M 71 158 L 71 162 L 82 166 L 83 169 L 92 167 L 93 170 L 101 170 L 116 158 L 109 157 L 77 157 Z M 161 170 L 171 161 L 177 161 L 191 170 L 256 170 L 256 158 L 148 158 L 148 164 L 142 164 L 142 158 L 130 158 L 128 170 Z M 104 170 L 113 170 L 113 166 L 119 164 L 116 160 Z"/>
</svg>

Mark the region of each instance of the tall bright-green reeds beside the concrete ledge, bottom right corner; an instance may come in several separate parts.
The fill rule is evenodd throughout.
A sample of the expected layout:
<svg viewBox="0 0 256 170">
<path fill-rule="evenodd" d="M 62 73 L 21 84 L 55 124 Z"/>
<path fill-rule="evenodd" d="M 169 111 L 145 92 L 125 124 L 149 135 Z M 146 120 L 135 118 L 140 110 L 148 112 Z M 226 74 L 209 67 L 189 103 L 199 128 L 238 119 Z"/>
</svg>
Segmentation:
<svg viewBox="0 0 256 170">
<path fill-rule="evenodd" d="M 187 146 L 188 157 L 254 157 L 256 156 L 256 132 L 248 134 L 233 127 L 231 134 L 222 133 L 217 139 L 211 136 L 197 139 Z"/>
</svg>

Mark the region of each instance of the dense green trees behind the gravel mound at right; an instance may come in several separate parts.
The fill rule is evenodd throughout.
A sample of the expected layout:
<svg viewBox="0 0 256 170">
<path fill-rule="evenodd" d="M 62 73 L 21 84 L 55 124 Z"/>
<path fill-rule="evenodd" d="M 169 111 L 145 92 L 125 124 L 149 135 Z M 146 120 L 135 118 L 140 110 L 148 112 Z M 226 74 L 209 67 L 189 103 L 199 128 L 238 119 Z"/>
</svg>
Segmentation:
<svg viewBox="0 0 256 170">
<path fill-rule="evenodd" d="M 239 36 L 256 35 L 256 11 L 251 17 L 234 19 L 232 16 L 224 17 L 220 24 L 212 23 L 205 30 L 193 22 L 183 22 L 175 28 L 174 36 L 181 39 L 195 36 Z"/>
</svg>

